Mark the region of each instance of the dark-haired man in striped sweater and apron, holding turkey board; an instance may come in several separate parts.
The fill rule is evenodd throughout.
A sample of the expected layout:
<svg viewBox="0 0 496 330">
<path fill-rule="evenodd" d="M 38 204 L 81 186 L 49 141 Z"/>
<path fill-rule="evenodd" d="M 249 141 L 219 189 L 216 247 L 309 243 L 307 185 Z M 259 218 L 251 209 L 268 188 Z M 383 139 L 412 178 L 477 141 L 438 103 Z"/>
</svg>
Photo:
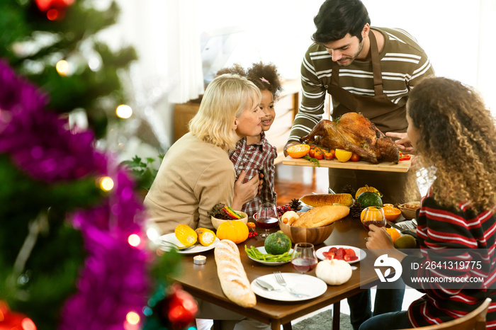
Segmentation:
<svg viewBox="0 0 496 330">
<path fill-rule="evenodd" d="M 332 96 L 334 123 L 345 113 L 361 113 L 386 135 L 398 137 L 406 132 L 408 94 L 424 77 L 434 75 L 415 38 L 405 30 L 371 28 L 360 0 L 327 0 L 314 23 L 314 43 L 301 64 L 303 98 L 285 154 L 322 120 L 326 91 Z M 329 169 L 329 187 L 335 192 L 342 192 L 346 185 L 368 184 L 389 203 L 402 202 L 405 183 L 405 173 Z M 378 290 L 374 314 L 401 310 L 404 290 L 404 285 L 398 290 Z M 369 290 L 349 298 L 354 329 L 372 316 L 370 300 Z"/>
</svg>

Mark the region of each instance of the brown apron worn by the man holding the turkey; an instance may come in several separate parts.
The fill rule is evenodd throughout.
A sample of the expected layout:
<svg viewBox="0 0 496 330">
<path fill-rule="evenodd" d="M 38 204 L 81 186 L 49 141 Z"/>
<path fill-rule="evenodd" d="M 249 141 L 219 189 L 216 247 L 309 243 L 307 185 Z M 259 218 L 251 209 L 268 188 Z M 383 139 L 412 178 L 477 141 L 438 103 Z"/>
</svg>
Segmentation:
<svg viewBox="0 0 496 330">
<path fill-rule="evenodd" d="M 350 93 L 339 87 L 339 64 L 333 62 L 331 85 L 327 92 L 339 106 L 332 110 L 332 118 L 349 112 L 357 112 L 371 120 L 381 132 L 406 132 L 406 106 L 398 106 L 383 93 L 383 78 L 376 36 L 372 30 L 368 33 L 371 42 L 371 60 L 373 71 L 374 96 Z M 405 190 L 406 173 L 363 171 L 349 169 L 329 169 L 329 188 L 341 193 L 342 188 L 351 185 L 360 188 L 373 186 L 383 193 L 384 203 L 402 203 Z"/>
</svg>

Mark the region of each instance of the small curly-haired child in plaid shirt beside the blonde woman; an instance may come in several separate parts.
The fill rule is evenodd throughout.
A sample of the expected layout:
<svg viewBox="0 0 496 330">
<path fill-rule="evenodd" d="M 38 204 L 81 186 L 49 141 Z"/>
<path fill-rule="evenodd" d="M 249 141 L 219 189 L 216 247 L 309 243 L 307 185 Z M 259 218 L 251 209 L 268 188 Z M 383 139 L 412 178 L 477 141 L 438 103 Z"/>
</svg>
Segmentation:
<svg viewBox="0 0 496 330">
<path fill-rule="evenodd" d="M 237 176 L 244 170 L 246 171 L 245 181 L 259 176 L 259 174 L 262 174 L 261 177 L 264 178 L 259 195 L 243 206 L 242 211 L 251 217 L 258 211 L 262 203 L 276 204 L 274 159 L 277 157 L 277 149 L 266 140 L 265 131 L 269 130 L 276 118 L 274 101 L 277 100 L 282 91 L 281 78 L 274 64 L 264 64 L 263 62 L 252 64 L 252 67 L 246 71 L 241 65 L 235 64 L 230 68 L 220 69 L 217 75 L 225 73 L 246 76 L 261 91 L 260 108 L 265 114 L 261 122 L 261 133 L 239 140 L 236 149 L 230 152 L 230 159 L 235 165 Z"/>
</svg>

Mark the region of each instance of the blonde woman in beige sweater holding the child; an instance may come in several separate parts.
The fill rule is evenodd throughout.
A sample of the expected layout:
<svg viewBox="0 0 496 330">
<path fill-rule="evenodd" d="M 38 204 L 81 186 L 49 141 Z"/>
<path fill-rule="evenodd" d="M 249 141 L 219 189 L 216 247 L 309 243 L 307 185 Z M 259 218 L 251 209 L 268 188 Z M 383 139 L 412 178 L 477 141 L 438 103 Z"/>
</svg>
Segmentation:
<svg viewBox="0 0 496 330">
<path fill-rule="evenodd" d="M 257 195 L 259 178 L 235 182 L 229 150 L 238 140 L 261 132 L 263 111 L 257 86 L 237 74 L 215 78 L 205 90 L 189 132 L 177 140 L 160 165 L 145 206 L 162 234 L 177 224 L 213 229 L 207 212 L 218 203 L 241 210 Z"/>
</svg>

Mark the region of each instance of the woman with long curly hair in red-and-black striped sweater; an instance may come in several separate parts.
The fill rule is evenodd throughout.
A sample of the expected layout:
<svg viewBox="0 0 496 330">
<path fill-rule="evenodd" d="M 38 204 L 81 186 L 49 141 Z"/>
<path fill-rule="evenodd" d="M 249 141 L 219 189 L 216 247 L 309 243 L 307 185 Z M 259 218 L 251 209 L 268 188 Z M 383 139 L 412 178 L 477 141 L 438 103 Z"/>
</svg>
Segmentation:
<svg viewBox="0 0 496 330">
<path fill-rule="evenodd" d="M 385 230 L 373 225 L 366 246 L 377 255 L 385 253 L 378 249 L 388 249 L 389 257 L 401 261 L 405 283 L 425 295 L 407 311 L 373 317 L 360 329 L 440 324 L 468 314 L 487 297 L 493 300 L 487 313 L 487 327 L 492 329 L 490 325 L 496 326 L 495 120 L 473 89 L 438 77 L 422 81 L 410 93 L 407 121 L 408 139 L 417 153 L 415 166 L 424 168 L 432 180 L 417 211 L 422 256 L 395 250 Z M 410 184 L 416 185 L 412 173 Z M 415 283 L 414 278 L 429 281 Z"/>
</svg>

